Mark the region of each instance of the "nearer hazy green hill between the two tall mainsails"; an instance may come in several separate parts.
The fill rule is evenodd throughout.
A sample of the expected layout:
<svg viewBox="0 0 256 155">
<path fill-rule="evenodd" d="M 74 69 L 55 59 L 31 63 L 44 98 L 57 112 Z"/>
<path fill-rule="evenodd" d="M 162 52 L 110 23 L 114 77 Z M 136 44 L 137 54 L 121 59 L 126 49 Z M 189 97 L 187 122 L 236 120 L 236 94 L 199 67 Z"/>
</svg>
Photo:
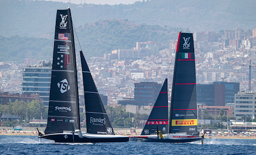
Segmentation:
<svg viewBox="0 0 256 155">
<path fill-rule="evenodd" d="M 85 53 L 103 56 L 112 50 L 136 47 L 136 42 L 168 42 L 177 38 L 178 31 L 167 26 L 139 25 L 127 20 L 104 20 L 82 25 L 77 29 L 77 35 Z"/>
</svg>

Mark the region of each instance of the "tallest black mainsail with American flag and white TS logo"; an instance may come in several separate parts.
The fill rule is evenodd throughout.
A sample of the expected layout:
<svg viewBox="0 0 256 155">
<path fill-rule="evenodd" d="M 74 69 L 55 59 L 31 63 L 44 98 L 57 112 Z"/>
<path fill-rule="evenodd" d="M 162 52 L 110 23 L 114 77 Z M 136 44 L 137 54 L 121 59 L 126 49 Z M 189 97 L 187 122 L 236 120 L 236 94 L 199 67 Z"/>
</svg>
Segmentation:
<svg viewBox="0 0 256 155">
<path fill-rule="evenodd" d="M 57 10 L 45 134 L 80 129 L 76 56 L 70 9 Z"/>
</svg>

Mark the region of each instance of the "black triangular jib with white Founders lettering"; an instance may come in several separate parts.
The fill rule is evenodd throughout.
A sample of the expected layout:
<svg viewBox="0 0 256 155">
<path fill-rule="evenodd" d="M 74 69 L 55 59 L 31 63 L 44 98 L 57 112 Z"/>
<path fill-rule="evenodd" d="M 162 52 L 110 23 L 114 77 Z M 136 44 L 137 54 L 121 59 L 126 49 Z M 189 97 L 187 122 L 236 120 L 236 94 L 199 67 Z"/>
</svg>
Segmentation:
<svg viewBox="0 0 256 155">
<path fill-rule="evenodd" d="M 88 64 L 86 63 L 83 52 L 80 51 L 82 72 L 83 72 L 83 88 L 85 94 L 86 108 L 86 127 L 88 133 L 93 134 L 113 134 L 114 130 L 108 119 L 108 115 L 102 104 L 98 90 L 90 74 Z"/>
</svg>

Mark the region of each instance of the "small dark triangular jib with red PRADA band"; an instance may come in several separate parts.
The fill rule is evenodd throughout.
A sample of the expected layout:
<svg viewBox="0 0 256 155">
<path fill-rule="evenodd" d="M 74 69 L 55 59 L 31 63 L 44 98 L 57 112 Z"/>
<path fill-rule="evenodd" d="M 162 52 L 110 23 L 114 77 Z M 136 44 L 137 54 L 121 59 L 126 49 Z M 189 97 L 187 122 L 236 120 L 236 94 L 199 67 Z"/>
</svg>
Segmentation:
<svg viewBox="0 0 256 155">
<path fill-rule="evenodd" d="M 141 135 L 157 134 L 161 131 L 163 134 L 168 133 L 168 91 L 167 79 L 164 81 L 162 89 L 158 95 L 157 101 L 146 121 Z"/>
</svg>

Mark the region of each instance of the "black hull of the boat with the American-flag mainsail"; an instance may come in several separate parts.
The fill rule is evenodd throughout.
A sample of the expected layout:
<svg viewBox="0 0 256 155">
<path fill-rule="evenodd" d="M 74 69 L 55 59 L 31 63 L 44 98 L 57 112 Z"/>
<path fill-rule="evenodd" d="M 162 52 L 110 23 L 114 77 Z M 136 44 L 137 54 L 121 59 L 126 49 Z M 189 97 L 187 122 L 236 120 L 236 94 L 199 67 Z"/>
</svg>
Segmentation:
<svg viewBox="0 0 256 155">
<path fill-rule="evenodd" d="M 95 135 L 95 136 L 93 136 Z M 120 135 L 100 135 L 100 134 L 83 134 L 83 138 L 80 138 L 78 134 L 47 134 L 39 136 L 39 138 L 45 138 L 48 140 L 54 140 L 56 143 L 111 143 L 111 142 L 126 142 L 129 141 L 129 137 Z"/>
</svg>

